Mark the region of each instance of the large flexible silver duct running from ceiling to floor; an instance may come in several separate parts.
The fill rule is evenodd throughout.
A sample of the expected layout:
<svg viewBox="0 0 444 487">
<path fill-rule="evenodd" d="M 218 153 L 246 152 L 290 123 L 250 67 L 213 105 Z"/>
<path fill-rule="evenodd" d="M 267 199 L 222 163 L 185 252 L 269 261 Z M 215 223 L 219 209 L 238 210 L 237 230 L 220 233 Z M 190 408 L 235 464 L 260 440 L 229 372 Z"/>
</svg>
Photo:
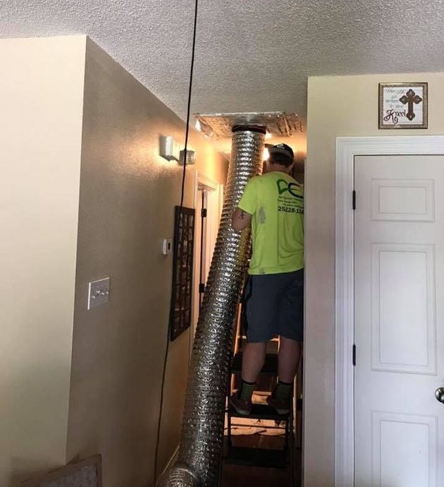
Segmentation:
<svg viewBox="0 0 444 487">
<path fill-rule="evenodd" d="M 234 232 L 231 217 L 247 181 L 261 171 L 264 134 L 261 127 L 233 129 L 221 224 L 192 350 L 178 463 L 164 483 L 168 487 L 218 485 L 233 323 L 250 246 L 249 232 Z"/>
</svg>

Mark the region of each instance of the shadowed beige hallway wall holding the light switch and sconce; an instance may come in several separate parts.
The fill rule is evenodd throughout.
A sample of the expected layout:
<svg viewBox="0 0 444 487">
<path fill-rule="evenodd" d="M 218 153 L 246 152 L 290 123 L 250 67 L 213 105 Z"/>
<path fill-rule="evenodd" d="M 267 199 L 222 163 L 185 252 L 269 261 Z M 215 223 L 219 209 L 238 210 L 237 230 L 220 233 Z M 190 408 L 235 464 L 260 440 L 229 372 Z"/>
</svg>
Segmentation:
<svg viewBox="0 0 444 487">
<path fill-rule="evenodd" d="M 160 246 L 183 170 L 158 155 L 167 135 L 183 143 L 183 121 L 88 40 L 68 459 L 101 452 L 107 487 L 151 486 L 154 474 L 172 273 Z M 221 157 L 197 133 L 191 145 L 199 170 L 223 182 Z M 87 283 L 106 276 L 111 301 L 86 311 Z M 160 471 L 178 445 L 188 344 L 188 332 L 170 344 Z"/>
</svg>

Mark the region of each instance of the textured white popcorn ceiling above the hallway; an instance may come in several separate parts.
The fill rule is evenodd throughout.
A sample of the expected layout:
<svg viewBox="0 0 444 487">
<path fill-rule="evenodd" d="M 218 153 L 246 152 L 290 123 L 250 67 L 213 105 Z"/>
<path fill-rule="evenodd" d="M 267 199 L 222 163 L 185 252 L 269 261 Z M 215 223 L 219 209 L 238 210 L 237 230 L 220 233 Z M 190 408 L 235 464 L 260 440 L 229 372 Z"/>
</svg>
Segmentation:
<svg viewBox="0 0 444 487">
<path fill-rule="evenodd" d="M 1 0 L 0 37 L 86 33 L 185 117 L 194 0 Z M 193 112 L 304 116 L 310 75 L 444 70 L 443 0 L 199 0 Z"/>
</svg>

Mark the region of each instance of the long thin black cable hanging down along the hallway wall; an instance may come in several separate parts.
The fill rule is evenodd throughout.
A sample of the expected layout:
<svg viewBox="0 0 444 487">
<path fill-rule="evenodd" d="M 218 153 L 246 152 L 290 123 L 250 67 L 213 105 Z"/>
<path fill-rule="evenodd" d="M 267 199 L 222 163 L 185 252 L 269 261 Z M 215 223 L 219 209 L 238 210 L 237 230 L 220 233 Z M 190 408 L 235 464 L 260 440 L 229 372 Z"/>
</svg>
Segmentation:
<svg viewBox="0 0 444 487">
<path fill-rule="evenodd" d="M 191 92 L 192 92 L 192 76 L 195 68 L 195 49 L 196 49 L 196 27 L 197 27 L 197 2 L 195 0 L 195 18 L 192 32 L 192 49 L 191 49 L 191 67 L 190 67 L 190 83 L 188 85 L 188 102 L 187 102 L 187 125 L 185 128 L 185 148 L 183 150 L 183 173 L 182 173 L 182 188 L 180 190 L 180 209 L 183 208 L 183 199 L 185 196 L 185 176 L 187 169 L 187 149 L 188 149 L 188 136 L 190 134 L 190 111 L 191 111 Z M 162 409 L 164 406 L 164 388 L 165 388 L 165 374 L 166 374 L 166 362 L 168 360 L 168 349 L 170 344 L 170 330 L 167 330 L 166 334 L 166 348 L 164 356 L 164 370 L 162 371 L 161 382 L 161 399 L 159 405 L 159 421 L 157 423 L 157 439 L 156 439 L 156 453 L 154 455 L 154 486 L 157 483 L 157 459 L 159 456 L 159 442 L 160 442 L 160 428 L 162 422 Z M 188 354 L 190 355 L 190 354 Z"/>
</svg>

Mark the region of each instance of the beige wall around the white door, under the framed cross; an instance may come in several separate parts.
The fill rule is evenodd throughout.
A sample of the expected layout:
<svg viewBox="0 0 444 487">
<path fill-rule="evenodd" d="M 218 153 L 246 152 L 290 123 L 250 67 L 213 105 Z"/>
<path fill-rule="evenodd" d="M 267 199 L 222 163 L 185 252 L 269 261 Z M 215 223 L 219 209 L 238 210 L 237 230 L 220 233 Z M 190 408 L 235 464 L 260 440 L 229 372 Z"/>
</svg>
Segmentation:
<svg viewBox="0 0 444 487">
<path fill-rule="evenodd" d="M 428 82 L 428 130 L 378 130 L 378 83 L 400 81 Z M 309 78 L 304 487 L 334 479 L 335 139 L 443 134 L 443 87 L 443 73 Z"/>
</svg>

